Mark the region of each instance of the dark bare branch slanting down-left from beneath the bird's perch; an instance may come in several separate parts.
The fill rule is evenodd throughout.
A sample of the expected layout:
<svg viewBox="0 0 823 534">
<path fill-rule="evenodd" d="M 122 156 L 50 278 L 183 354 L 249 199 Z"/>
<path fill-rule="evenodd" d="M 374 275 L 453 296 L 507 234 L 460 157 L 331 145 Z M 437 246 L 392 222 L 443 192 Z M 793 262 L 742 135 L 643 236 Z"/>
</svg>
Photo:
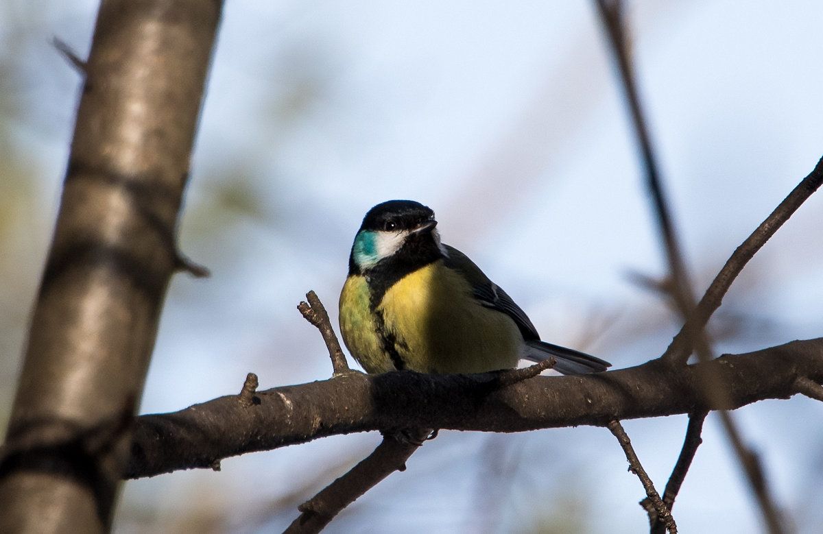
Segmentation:
<svg viewBox="0 0 823 534">
<path fill-rule="evenodd" d="M 426 435 L 423 435 L 425 432 Z M 353 503 L 394 471 L 405 471 L 406 461 L 420 443 L 425 441 L 429 430 L 421 430 L 417 440 L 397 439 L 394 434 L 384 434 L 383 441 L 368 457 L 351 468 L 345 475 L 333 481 L 319 494 L 300 504 L 300 517 L 285 532 L 320 532 L 343 508 Z"/>
</svg>

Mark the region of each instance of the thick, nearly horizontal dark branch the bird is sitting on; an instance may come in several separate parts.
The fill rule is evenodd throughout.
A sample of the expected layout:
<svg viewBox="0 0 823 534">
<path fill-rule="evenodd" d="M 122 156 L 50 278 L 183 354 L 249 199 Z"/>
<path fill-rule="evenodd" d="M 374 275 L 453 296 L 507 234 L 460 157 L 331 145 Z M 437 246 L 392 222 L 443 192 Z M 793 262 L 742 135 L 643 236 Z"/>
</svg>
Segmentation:
<svg viewBox="0 0 823 534">
<path fill-rule="evenodd" d="M 701 374 L 716 374 L 728 404 L 706 401 Z M 797 378 L 823 382 L 823 338 L 793 341 L 705 364 L 661 360 L 596 375 L 530 378 L 490 388 L 497 374 L 352 372 L 257 392 L 259 404 L 220 397 L 185 410 L 137 417 L 127 478 L 212 467 L 216 460 L 332 434 L 391 428 L 519 432 L 733 410 L 797 393 Z"/>
</svg>

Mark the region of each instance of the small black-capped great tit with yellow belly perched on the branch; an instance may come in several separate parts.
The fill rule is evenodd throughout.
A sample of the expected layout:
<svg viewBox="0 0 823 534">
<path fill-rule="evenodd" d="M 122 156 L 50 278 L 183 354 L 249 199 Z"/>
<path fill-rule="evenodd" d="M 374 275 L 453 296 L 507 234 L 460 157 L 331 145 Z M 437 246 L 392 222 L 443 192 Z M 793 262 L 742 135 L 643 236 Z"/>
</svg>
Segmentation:
<svg viewBox="0 0 823 534">
<path fill-rule="evenodd" d="M 349 256 L 340 328 L 368 373 L 481 373 L 554 356 L 562 374 L 611 364 L 540 341 L 523 309 L 457 248 L 440 243 L 435 212 L 390 200 L 370 209 Z"/>
</svg>

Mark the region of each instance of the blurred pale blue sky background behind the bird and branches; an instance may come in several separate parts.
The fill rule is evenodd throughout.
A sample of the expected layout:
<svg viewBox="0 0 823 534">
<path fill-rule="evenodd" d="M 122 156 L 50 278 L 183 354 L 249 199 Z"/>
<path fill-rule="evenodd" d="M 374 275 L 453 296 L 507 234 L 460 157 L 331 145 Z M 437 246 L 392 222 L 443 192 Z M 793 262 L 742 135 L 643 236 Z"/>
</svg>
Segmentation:
<svg viewBox="0 0 823 534">
<path fill-rule="evenodd" d="M 336 322 L 371 206 L 412 198 L 546 340 L 616 368 L 660 355 L 675 313 L 634 133 L 593 2 L 226 2 L 142 413 L 328 378 L 296 304 Z M 639 91 L 698 294 L 823 155 L 821 2 L 627 2 Z M 0 4 L 0 428 L 58 209 L 97 3 Z M 718 352 L 823 334 L 823 195 L 757 254 L 711 323 Z M 823 406 L 736 411 L 797 532 L 823 530 Z M 626 421 L 663 490 L 686 416 Z M 709 416 L 673 509 L 681 532 L 758 532 Z M 354 434 L 222 471 L 130 481 L 114 530 L 275 532 L 379 443 Z M 327 532 L 646 532 L 608 430 L 444 431 Z"/>
</svg>

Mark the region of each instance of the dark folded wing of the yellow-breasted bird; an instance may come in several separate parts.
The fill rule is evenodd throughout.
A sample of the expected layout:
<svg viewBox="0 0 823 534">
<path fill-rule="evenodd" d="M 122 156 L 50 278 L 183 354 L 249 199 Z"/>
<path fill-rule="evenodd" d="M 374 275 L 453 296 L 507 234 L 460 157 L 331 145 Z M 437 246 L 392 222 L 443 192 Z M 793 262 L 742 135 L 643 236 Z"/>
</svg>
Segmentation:
<svg viewBox="0 0 823 534">
<path fill-rule="evenodd" d="M 477 299 L 480 304 L 491 309 L 496 309 L 512 318 L 514 323 L 517 324 L 520 333 L 523 334 L 523 339 L 527 341 L 540 339 L 540 336 L 537 334 L 537 328 L 535 328 L 532 321 L 529 320 L 526 312 L 512 300 L 503 288 L 489 280 L 489 277 L 486 276 L 480 270 L 480 267 L 477 267 L 466 254 L 447 244 L 444 244 L 443 248 L 447 254 L 444 258 L 444 265 L 463 273 L 463 276 L 472 286 L 474 298 Z"/>
</svg>

